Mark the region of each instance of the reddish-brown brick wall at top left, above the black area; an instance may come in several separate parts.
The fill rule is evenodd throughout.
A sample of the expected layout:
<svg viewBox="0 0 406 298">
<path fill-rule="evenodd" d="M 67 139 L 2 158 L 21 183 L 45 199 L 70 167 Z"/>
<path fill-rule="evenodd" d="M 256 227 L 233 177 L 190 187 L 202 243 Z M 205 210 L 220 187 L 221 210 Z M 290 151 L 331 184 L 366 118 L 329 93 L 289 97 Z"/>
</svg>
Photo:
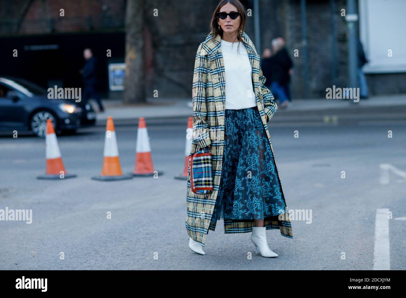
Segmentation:
<svg viewBox="0 0 406 298">
<path fill-rule="evenodd" d="M 60 16 L 60 9 L 64 9 L 65 16 Z M 123 28 L 124 15 L 125 0 L 3 0 L 0 1 L 0 34 Z"/>
</svg>

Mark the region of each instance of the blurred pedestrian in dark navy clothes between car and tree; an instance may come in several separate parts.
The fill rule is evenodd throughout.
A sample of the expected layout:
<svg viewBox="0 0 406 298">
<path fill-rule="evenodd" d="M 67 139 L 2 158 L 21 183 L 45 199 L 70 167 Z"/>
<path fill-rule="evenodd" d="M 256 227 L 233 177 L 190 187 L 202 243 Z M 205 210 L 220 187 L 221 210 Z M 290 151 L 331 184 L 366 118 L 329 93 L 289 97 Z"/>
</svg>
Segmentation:
<svg viewBox="0 0 406 298">
<path fill-rule="evenodd" d="M 89 99 L 94 99 L 99 105 L 99 111 L 103 112 L 104 107 L 99 94 L 97 93 L 97 59 L 93 57 L 91 49 L 86 48 L 83 51 L 83 57 L 86 63 L 80 70 L 83 78 L 83 97 L 86 103 Z"/>
</svg>

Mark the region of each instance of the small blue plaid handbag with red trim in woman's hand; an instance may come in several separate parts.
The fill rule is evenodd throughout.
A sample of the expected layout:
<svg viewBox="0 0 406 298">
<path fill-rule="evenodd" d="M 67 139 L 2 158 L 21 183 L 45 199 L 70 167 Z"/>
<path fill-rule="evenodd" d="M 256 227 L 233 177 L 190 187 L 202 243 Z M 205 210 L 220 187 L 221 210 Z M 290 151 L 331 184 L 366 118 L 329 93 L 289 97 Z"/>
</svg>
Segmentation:
<svg viewBox="0 0 406 298">
<path fill-rule="evenodd" d="M 212 154 L 207 147 L 189 155 L 190 184 L 194 193 L 205 195 L 213 190 Z"/>
</svg>

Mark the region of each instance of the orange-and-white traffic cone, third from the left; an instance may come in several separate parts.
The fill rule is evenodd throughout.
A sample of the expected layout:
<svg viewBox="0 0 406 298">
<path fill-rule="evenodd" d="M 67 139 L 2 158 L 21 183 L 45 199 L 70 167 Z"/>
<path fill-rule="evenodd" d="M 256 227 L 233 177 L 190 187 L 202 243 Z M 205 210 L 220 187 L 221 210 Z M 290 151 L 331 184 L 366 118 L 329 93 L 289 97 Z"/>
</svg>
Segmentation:
<svg viewBox="0 0 406 298">
<path fill-rule="evenodd" d="M 145 124 L 144 117 L 140 117 L 137 131 L 135 169 L 132 172 L 132 175 L 153 176 L 155 174 L 155 171 L 157 172 L 158 175 L 163 174 L 163 172 L 153 169 L 151 158 L 151 146 L 149 146 L 147 124 Z"/>
</svg>

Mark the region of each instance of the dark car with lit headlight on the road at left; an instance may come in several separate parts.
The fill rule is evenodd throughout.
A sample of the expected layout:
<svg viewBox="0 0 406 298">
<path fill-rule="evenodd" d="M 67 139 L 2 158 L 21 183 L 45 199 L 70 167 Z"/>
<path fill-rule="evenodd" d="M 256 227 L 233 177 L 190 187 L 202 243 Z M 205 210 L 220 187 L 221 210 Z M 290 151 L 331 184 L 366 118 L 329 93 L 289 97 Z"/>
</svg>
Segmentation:
<svg viewBox="0 0 406 298">
<path fill-rule="evenodd" d="M 48 90 L 30 81 L 0 77 L 0 129 L 29 129 L 45 137 L 48 118 L 57 133 L 74 133 L 96 122 L 89 103 L 49 99 Z"/>
</svg>

